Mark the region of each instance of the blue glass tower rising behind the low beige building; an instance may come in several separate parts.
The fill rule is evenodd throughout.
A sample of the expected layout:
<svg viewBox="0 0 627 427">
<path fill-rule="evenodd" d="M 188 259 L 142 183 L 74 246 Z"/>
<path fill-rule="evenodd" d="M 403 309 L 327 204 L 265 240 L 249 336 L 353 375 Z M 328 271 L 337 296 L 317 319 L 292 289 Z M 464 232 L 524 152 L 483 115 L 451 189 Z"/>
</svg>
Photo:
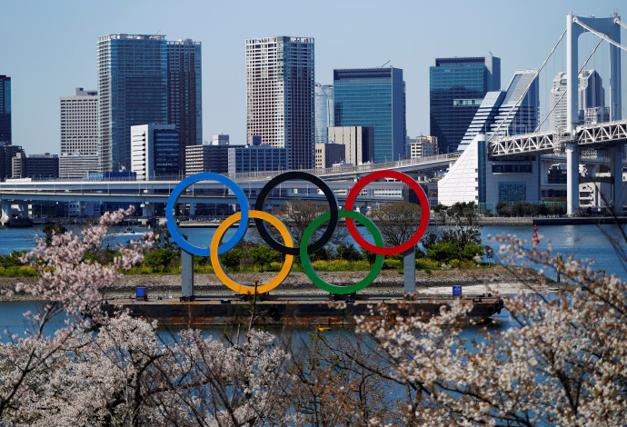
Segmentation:
<svg viewBox="0 0 627 427">
<path fill-rule="evenodd" d="M 400 68 L 333 70 L 335 126 L 372 126 L 375 163 L 399 160 L 405 144 L 405 83 Z"/>
</svg>

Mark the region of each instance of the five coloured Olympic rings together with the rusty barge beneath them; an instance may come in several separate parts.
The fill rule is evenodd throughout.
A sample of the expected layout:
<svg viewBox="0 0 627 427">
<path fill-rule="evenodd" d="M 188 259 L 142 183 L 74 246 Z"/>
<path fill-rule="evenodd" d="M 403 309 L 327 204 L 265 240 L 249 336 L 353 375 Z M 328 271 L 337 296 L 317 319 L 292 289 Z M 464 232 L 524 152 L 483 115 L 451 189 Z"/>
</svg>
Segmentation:
<svg viewBox="0 0 627 427">
<path fill-rule="evenodd" d="M 377 226 L 365 215 L 353 212 L 355 199 L 363 190 L 363 187 L 373 181 L 392 178 L 407 184 L 418 196 L 421 208 L 421 220 L 418 223 L 415 233 L 405 243 L 394 247 L 385 247 L 383 236 Z M 264 211 L 264 205 L 272 194 L 275 187 L 286 182 L 301 180 L 316 185 L 324 194 L 329 210 L 320 214 L 310 223 L 304 231 L 301 239 L 301 246 L 294 246 L 294 239 L 290 231 L 273 214 Z M 214 181 L 224 184 L 235 196 L 240 210 L 232 214 L 221 223 L 215 230 L 214 236 L 208 248 L 194 246 L 188 243 L 183 235 L 179 233 L 174 220 L 174 208 L 178 199 L 184 194 L 187 187 L 200 181 Z M 415 298 L 415 245 L 420 241 L 429 224 L 429 202 L 422 187 L 410 176 L 397 171 L 377 171 L 363 176 L 354 185 L 346 197 L 344 209 L 339 209 L 335 194 L 329 185 L 314 174 L 300 171 L 290 171 L 279 174 L 264 185 L 257 196 L 254 209 L 249 208 L 249 202 L 244 191 L 234 183 L 233 180 L 222 174 L 201 173 L 188 176 L 174 187 L 165 206 L 165 218 L 168 231 L 174 242 L 181 247 L 182 253 L 182 293 L 180 302 L 167 300 L 148 301 L 145 288 L 137 288 L 143 291 L 142 298 L 137 293 L 137 298 L 131 301 L 118 301 L 105 304 L 106 310 L 113 312 L 118 309 L 127 309 L 134 315 L 153 318 L 165 324 L 229 324 L 241 323 L 238 319 L 246 316 L 254 319 L 254 312 L 250 314 L 250 304 L 243 298 L 208 298 L 194 295 L 194 255 L 209 257 L 214 267 L 214 273 L 218 280 L 228 289 L 235 293 L 254 294 L 255 307 L 267 313 L 263 323 L 265 324 L 352 324 L 355 316 L 370 315 L 375 303 L 385 303 L 391 308 L 398 310 L 401 314 L 419 314 L 424 317 L 439 313 L 440 307 L 450 304 L 451 297 L 443 298 Z M 350 285 L 338 285 L 325 282 L 315 271 L 310 260 L 310 254 L 321 249 L 328 243 L 335 228 L 338 226 L 340 218 L 345 219 L 348 233 L 353 240 L 376 257 L 371 271 L 358 283 Z M 237 283 L 224 271 L 220 261 L 220 255 L 233 249 L 246 233 L 250 220 L 254 219 L 254 224 L 262 239 L 274 250 L 284 254 L 284 264 L 279 273 L 268 283 L 250 284 Z M 369 243 L 356 228 L 355 221 L 361 223 L 373 237 L 374 243 Z M 328 222 L 328 223 L 327 223 Z M 235 223 L 234 234 L 222 243 L 224 234 Z M 273 235 L 268 232 L 267 223 L 270 223 L 281 235 L 283 242 L 278 242 Z M 311 242 L 314 232 L 318 227 L 327 223 L 326 229 L 315 242 Z M 366 296 L 355 293 L 362 291 L 366 286 L 376 279 L 383 268 L 385 255 L 403 253 L 403 294 L 390 296 Z M 304 273 L 315 286 L 330 293 L 330 298 L 320 298 L 304 295 L 292 295 L 290 297 L 268 297 L 257 302 L 256 295 L 269 293 L 280 286 L 290 274 L 294 265 L 295 257 L 299 256 L 303 265 Z M 400 291 L 400 290 L 399 290 Z M 339 296 L 338 295 L 343 295 Z M 274 296 L 274 295 L 273 295 Z M 343 304 L 333 304 L 333 301 L 343 299 Z M 144 301 L 142 301 L 144 300 Z M 476 321 L 483 321 L 493 313 L 500 313 L 503 308 L 503 300 L 500 298 L 482 298 L 477 301 L 473 299 L 472 310 L 468 317 Z"/>
</svg>

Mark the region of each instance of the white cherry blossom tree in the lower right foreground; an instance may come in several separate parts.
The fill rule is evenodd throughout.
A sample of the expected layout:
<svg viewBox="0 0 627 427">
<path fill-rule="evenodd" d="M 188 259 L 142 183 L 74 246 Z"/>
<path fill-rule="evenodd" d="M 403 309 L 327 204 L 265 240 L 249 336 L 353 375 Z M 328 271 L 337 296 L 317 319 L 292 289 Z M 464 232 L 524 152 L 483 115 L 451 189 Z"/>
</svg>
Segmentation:
<svg viewBox="0 0 627 427">
<path fill-rule="evenodd" d="M 577 287 L 547 297 L 508 298 L 513 326 L 460 335 L 466 307 L 453 303 L 423 323 L 413 317 L 360 319 L 404 384 L 408 425 L 624 425 L 627 419 L 627 285 L 589 262 L 531 251 L 503 238 L 509 262 L 559 270 Z M 373 418 L 384 425 L 384 418 Z"/>
</svg>

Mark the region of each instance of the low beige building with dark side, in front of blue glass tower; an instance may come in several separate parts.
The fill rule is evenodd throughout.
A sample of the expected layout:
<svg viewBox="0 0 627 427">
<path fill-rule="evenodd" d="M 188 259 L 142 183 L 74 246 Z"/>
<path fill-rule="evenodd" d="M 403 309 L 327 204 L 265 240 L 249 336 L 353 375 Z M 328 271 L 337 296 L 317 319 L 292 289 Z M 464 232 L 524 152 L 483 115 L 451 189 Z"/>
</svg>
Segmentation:
<svg viewBox="0 0 627 427">
<path fill-rule="evenodd" d="M 329 128 L 329 144 L 343 145 L 346 164 L 358 166 L 373 162 L 375 131 L 373 126 L 333 126 Z"/>
</svg>

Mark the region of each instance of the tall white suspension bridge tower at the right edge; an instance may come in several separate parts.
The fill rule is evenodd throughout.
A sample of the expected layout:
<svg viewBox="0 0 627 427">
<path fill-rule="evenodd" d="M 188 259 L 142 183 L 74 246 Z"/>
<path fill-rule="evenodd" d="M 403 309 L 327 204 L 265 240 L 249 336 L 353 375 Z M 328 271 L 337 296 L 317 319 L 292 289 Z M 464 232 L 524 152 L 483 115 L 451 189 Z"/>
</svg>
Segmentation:
<svg viewBox="0 0 627 427">
<path fill-rule="evenodd" d="M 578 40 L 586 31 L 607 35 L 617 44 L 621 43 L 621 26 L 619 16 L 609 18 L 582 17 L 570 13 L 566 16 L 566 132 L 571 142 L 566 143 L 567 163 L 567 214 L 579 211 L 579 148 L 573 141 L 578 123 L 577 89 L 579 85 Z M 586 28 L 587 27 L 587 28 Z M 621 51 L 610 45 L 610 120 L 621 119 Z M 622 214 L 622 144 L 612 146 L 611 173 L 612 205 L 617 214 Z"/>
</svg>

